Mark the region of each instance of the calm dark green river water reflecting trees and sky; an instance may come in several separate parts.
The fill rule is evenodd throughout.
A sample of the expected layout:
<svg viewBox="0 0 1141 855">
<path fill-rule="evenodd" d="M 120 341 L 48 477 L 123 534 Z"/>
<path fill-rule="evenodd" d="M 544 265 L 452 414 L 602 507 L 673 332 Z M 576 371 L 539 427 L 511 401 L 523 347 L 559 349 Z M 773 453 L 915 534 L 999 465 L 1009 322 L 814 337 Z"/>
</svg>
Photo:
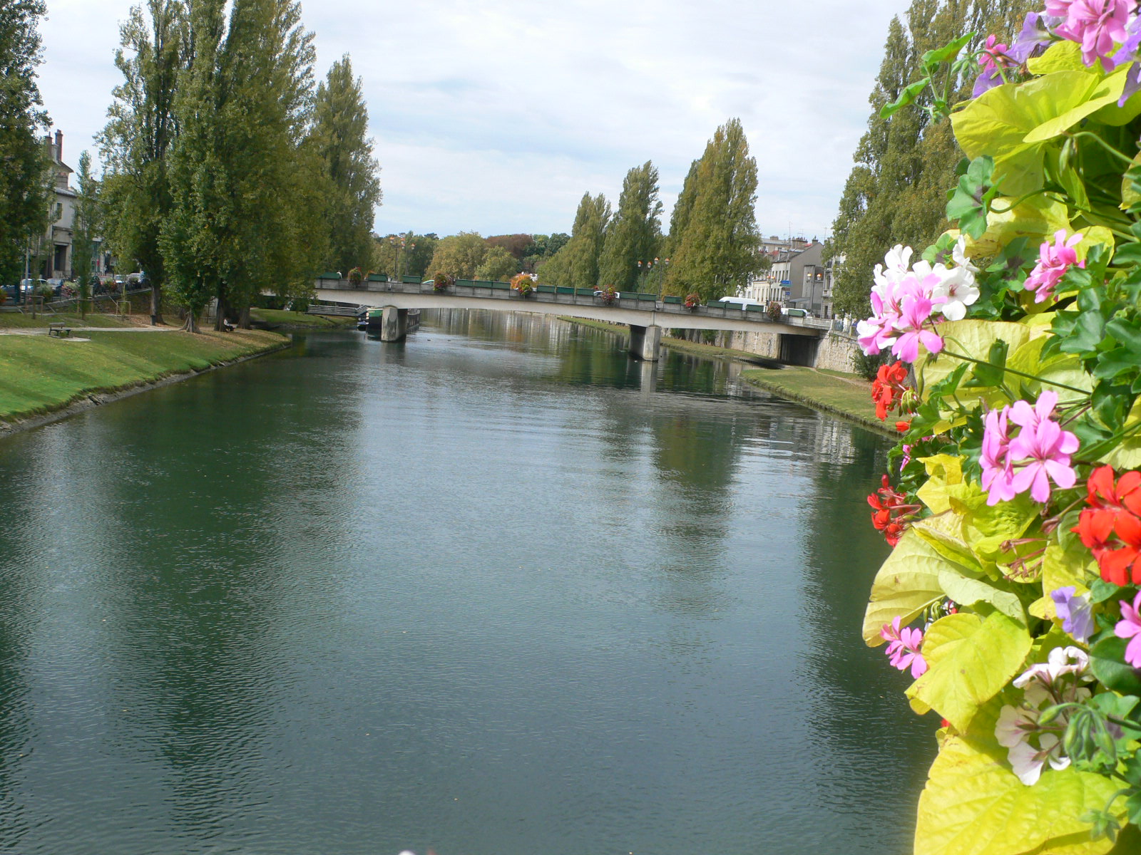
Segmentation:
<svg viewBox="0 0 1141 855">
<path fill-rule="evenodd" d="M 887 446 L 726 372 L 455 314 L 0 442 L 0 853 L 909 849 Z"/>
</svg>

